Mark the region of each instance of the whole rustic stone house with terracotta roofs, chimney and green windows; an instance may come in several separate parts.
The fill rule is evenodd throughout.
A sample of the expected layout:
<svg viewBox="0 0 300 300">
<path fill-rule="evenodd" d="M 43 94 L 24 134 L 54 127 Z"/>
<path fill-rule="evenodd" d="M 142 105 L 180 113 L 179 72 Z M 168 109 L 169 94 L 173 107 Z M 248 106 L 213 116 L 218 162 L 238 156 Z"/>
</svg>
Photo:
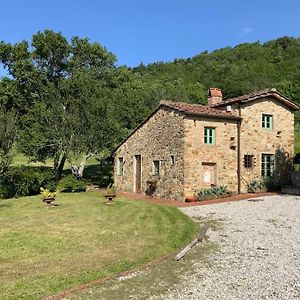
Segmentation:
<svg viewBox="0 0 300 300">
<path fill-rule="evenodd" d="M 275 89 L 223 100 L 212 88 L 207 106 L 162 100 L 115 149 L 115 186 L 179 201 L 212 184 L 246 192 L 278 151 L 293 156 L 298 109 Z"/>
</svg>

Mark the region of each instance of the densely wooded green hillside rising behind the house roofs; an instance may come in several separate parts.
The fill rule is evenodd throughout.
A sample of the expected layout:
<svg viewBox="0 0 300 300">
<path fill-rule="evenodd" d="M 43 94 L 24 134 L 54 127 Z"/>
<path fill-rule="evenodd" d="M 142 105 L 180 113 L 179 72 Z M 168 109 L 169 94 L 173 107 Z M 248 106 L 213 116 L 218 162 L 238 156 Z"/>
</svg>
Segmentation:
<svg viewBox="0 0 300 300">
<path fill-rule="evenodd" d="M 209 87 L 221 88 L 226 98 L 275 87 L 300 102 L 300 39 L 246 43 L 133 71 L 149 83 L 164 82 L 166 96 L 176 100 L 205 102 Z"/>
</svg>

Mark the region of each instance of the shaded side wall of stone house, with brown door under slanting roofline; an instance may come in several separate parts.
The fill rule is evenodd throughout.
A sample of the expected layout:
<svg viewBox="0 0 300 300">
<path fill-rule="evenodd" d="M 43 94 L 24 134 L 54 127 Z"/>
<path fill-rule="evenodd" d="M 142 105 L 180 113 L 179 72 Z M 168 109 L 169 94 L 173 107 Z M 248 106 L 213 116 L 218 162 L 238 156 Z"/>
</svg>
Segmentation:
<svg viewBox="0 0 300 300">
<path fill-rule="evenodd" d="M 183 200 L 184 144 L 183 115 L 162 106 L 116 151 L 114 181 L 118 190 L 135 191 L 135 155 L 141 155 L 141 192 L 151 180 L 156 182 L 154 197 Z M 171 155 L 175 158 L 172 165 Z M 118 158 L 124 159 L 123 176 L 118 175 Z M 159 176 L 153 175 L 153 160 L 160 162 Z"/>
</svg>

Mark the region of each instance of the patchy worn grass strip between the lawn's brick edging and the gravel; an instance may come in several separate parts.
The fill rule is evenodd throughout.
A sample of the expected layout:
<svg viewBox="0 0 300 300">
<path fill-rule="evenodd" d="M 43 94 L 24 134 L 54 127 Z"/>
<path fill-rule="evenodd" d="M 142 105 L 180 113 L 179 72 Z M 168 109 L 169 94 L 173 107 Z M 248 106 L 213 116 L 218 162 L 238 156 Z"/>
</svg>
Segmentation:
<svg viewBox="0 0 300 300">
<path fill-rule="evenodd" d="M 221 219 L 197 218 L 196 222 L 201 225 L 207 224 L 212 231 L 223 229 L 223 220 Z M 145 270 L 68 295 L 67 299 L 143 300 L 153 296 L 154 298 L 158 296 L 161 299 L 163 298 L 162 295 L 168 293 L 173 287 L 178 289 L 180 286 L 184 286 L 189 276 L 199 272 L 200 266 L 210 268 L 214 264 L 210 254 L 218 250 L 219 246 L 210 241 L 208 234 L 204 242 L 193 247 L 180 261 L 168 258 L 158 265 L 149 266 Z M 199 282 L 201 282 L 202 277 L 198 276 Z"/>
</svg>

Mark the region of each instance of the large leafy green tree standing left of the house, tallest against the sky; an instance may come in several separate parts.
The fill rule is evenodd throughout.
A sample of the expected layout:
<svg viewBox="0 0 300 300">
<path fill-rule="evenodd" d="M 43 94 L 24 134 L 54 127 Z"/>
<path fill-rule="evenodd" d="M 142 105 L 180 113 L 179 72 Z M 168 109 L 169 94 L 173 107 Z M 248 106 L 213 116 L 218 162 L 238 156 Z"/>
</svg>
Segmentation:
<svg viewBox="0 0 300 300">
<path fill-rule="evenodd" d="M 108 114 L 113 54 L 87 38 L 69 43 L 45 30 L 33 35 L 30 49 L 24 41 L 1 42 L 0 59 L 26 103 L 20 148 L 32 160 L 53 158 L 57 180 L 72 155 L 112 147 L 118 129 Z"/>
</svg>

